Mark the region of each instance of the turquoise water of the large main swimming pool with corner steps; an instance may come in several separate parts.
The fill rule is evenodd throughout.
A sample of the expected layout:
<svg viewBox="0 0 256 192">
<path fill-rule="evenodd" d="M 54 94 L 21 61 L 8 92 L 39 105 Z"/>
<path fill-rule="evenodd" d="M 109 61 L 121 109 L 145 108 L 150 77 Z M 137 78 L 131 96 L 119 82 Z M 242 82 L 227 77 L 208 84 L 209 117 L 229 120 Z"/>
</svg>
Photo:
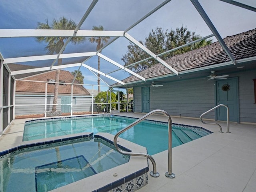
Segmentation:
<svg viewBox="0 0 256 192">
<path fill-rule="evenodd" d="M 115 135 L 136 118 L 121 116 L 87 116 L 31 121 L 25 124 L 23 140 L 36 140 L 81 132 L 108 132 Z M 172 147 L 187 143 L 210 134 L 199 127 L 172 125 Z M 120 135 L 121 138 L 144 146 L 153 155 L 168 149 L 168 124 L 144 120 Z"/>
</svg>

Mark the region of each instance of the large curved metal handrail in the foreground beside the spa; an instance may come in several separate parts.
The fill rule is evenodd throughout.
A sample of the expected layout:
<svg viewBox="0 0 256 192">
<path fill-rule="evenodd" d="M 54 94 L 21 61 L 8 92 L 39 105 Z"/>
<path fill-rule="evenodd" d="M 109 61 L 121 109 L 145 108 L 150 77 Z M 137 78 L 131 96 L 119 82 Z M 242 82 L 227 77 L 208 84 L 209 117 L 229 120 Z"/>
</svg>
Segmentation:
<svg viewBox="0 0 256 192">
<path fill-rule="evenodd" d="M 155 162 L 154 158 L 152 158 L 152 156 L 150 156 L 147 153 L 123 151 L 119 148 L 119 146 L 117 144 L 117 138 L 120 134 L 122 134 L 126 130 L 132 128 L 136 124 L 145 120 L 148 116 L 151 116 L 155 113 L 162 113 L 168 118 L 168 140 L 169 140 L 169 142 L 168 142 L 168 172 L 165 173 L 165 176 L 168 178 L 174 178 L 175 175 L 172 173 L 172 119 L 166 111 L 160 110 L 160 109 L 153 110 L 153 111 L 149 112 L 148 114 L 144 115 L 143 117 L 139 118 L 138 120 L 134 121 L 132 124 L 128 125 L 126 128 L 123 128 L 122 130 L 117 132 L 116 135 L 114 136 L 114 145 L 116 147 L 116 150 L 122 154 L 132 155 L 132 156 L 143 156 L 143 157 L 148 158 L 152 162 L 152 165 L 153 165 L 153 171 L 150 172 L 150 175 L 152 177 L 159 177 L 159 173 L 156 172 L 156 162 Z"/>
</svg>

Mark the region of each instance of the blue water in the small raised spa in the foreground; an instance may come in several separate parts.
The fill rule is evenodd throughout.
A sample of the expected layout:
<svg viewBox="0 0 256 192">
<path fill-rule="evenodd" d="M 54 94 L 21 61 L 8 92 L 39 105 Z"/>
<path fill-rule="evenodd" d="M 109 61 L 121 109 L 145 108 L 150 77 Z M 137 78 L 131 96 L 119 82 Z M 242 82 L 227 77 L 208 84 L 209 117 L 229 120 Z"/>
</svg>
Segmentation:
<svg viewBox="0 0 256 192">
<path fill-rule="evenodd" d="M 1 192 L 46 192 L 129 161 L 98 140 L 18 152 L 0 158 Z"/>
</svg>

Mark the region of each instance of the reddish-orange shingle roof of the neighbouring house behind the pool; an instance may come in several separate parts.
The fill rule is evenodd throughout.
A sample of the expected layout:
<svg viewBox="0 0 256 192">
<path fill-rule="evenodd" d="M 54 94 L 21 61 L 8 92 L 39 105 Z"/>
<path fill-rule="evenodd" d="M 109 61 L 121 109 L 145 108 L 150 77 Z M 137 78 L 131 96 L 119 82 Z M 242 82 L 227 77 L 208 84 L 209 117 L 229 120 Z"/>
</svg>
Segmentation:
<svg viewBox="0 0 256 192">
<path fill-rule="evenodd" d="M 48 82 L 48 80 L 55 80 L 56 71 L 39 74 L 24 80 L 36 80 Z M 60 70 L 60 81 L 65 83 L 72 83 L 74 77 L 69 71 Z M 76 80 L 74 83 L 78 83 Z M 42 82 L 28 82 L 28 81 L 16 81 L 16 92 L 33 92 L 33 93 L 44 93 L 45 83 Z M 47 85 L 47 93 L 54 93 L 54 84 Z M 60 85 L 59 94 L 71 94 L 71 84 Z M 90 93 L 82 85 L 73 85 L 73 94 L 90 95 Z"/>
</svg>

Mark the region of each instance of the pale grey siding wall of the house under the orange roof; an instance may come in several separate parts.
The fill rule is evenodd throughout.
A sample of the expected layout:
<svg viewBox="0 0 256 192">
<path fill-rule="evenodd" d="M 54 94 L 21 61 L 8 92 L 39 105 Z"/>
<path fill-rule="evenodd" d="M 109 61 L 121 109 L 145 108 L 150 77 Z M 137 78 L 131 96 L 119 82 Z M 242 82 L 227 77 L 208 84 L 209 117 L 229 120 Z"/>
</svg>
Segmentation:
<svg viewBox="0 0 256 192">
<path fill-rule="evenodd" d="M 61 97 L 58 96 L 57 111 L 61 110 Z M 76 104 L 73 105 L 73 112 L 92 112 L 91 105 L 78 105 L 78 104 L 92 104 L 92 96 L 73 96 Z M 52 104 L 53 96 L 47 97 L 47 104 Z M 40 104 L 38 106 L 38 104 Z M 22 95 L 16 94 L 15 105 L 30 105 L 30 106 L 15 106 L 15 115 L 26 114 L 43 114 L 44 113 L 45 96 L 44 95 Z M 51 111 L 52 106 L 47 106 L 47 111 Z M 96 111 L 96 107 L 94 107 Z"/>
</svg>

